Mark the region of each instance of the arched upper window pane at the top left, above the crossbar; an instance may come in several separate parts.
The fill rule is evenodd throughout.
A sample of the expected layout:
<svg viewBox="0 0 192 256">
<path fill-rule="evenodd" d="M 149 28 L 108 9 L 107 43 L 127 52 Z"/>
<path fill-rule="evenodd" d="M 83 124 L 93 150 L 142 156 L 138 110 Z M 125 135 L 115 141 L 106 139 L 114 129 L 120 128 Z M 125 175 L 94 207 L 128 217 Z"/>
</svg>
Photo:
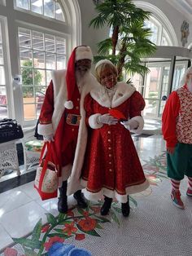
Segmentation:
<svg viewBox="0 0 192 256">
<path fill-rule="evenodd" d="M 16 0 L 16 7 L 39 15 L 65 21 L 63 11 L 58 2 L 53 0 Z"/>
</svg>

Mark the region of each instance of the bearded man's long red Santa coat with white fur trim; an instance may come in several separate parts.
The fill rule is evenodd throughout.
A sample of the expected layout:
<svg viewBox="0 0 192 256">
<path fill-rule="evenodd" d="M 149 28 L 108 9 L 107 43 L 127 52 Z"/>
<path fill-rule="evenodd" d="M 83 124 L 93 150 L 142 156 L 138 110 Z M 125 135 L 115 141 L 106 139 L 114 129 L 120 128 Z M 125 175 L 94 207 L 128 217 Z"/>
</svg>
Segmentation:
<svg viewBox="0 0 192 256">
<path fill-rule="evenodd" d="M 46 97 L 39 117 L 40 124 L 38 125 L 39 134 L 55 135 L 55 152 L 61 167 L 59 185 L 63 180 L 68 179 L 71 172 L 81 171 L 87 139 L 84 99 L 94 86 L 98 86 L 94 76 L 87 73 L 81 95 L 76 86 L 72 98 L 73 108 L 69 110 L 64 107 L 68 100 L 65 77 L 66 70 L 52 73 L 52 81 L 46 90 Z M 68 124 L 68 113 L 81 115 L 79 126 Z M 82 188 L 80 183 L 68 187 L 72 189 L 72 192 Z"/>
</svg>

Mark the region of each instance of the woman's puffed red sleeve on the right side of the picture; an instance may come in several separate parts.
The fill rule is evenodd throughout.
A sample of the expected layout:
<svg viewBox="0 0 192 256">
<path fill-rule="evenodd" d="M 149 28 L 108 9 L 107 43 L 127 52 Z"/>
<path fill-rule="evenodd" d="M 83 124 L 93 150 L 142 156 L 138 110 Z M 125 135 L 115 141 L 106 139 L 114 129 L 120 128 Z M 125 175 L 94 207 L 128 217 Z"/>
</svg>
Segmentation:
<svg viewBox="0 0 192 256">
<path fill-rule="evenodd" d="M 135 91 L 131 96 L 130 100 L 131 105 L 129 117 L 132 118 L 142 116 L 142 110 L 146 106 L 145 100 L 142 98 L 142 95 L 138 91 Z"/>
</svg>

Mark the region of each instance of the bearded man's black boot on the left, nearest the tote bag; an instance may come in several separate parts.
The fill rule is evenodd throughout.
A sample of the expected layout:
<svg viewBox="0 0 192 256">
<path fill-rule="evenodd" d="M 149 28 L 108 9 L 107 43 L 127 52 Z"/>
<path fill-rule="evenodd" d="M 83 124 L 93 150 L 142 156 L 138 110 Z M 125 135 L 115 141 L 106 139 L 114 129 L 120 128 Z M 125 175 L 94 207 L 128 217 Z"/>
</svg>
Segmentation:
<svg viewBox="0 0 192 256">
<path fill-rule="evenodd" d="M 63 181 L 62 187 L 59 188 L 59 201 L 58 210 L 59 213 L 65 214 L 68 211 L 68 196 L 67 196 L 68 181 Z"/>
</svg>

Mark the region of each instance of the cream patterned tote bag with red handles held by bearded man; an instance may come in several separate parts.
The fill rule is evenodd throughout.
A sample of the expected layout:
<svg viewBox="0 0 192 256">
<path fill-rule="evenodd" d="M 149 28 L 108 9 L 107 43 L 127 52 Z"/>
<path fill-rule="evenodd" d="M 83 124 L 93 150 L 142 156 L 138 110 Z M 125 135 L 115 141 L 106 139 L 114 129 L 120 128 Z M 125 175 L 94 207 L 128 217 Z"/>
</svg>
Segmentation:
<svg viewBox="0 0 192 256">
<path fill-rule="evenodd" d="M 46 157 L 43 158 L 45 152 Z M 50 161 L 50 157 L 56 159 L 56 156 L 51 156 L 51 152 L 55 155 L 54 142 L 44 143 L 34 182 L 34 188 L 37 189 L 37 192 L 41 196 L 41 200 L 57 197 L 59 183 L 57 161 L 54 160 L 55 163 Z"/>
</svg>

